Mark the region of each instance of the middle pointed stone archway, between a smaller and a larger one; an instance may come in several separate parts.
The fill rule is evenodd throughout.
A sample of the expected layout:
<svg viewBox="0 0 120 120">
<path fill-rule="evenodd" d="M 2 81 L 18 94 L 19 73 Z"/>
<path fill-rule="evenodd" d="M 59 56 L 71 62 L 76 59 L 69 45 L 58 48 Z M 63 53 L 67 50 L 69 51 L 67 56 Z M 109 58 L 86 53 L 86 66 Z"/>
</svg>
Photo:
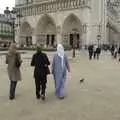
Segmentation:
<svg viewBox="0 0 120 120">
<path fill-rule="evenodd" d="M 37 44 L 54 47 L 56 44 L 56 24 L 49 15 L 41 17 L 36 28 Z"/>
</svg>

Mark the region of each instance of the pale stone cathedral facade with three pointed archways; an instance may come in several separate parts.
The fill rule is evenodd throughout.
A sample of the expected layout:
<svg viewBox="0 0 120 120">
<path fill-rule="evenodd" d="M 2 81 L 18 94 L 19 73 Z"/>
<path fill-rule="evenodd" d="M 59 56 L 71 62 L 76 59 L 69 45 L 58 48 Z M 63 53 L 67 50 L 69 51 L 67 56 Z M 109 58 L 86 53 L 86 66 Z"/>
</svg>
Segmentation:
<svg viewBox="0 0 120 120">
<path fill-rule="evenodd" d="M 20 46 L 119 42 L 118 12 L 105 0 L 16 0 Z"/>
</svg>

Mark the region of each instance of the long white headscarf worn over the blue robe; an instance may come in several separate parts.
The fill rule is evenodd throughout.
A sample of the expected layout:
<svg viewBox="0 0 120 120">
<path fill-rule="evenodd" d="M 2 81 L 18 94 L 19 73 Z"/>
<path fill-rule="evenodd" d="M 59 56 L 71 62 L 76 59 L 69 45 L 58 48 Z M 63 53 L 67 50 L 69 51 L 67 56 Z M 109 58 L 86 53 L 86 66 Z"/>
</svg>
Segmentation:
<svg viewBox="0 0 120 120">
<path fill-rule="evenodd" d="M 64 48 L 63 48 L 63 45 L 62 44 L 58 44 L 57 45 L 57 55 L 59 57 L 61 57 L 61 60 L 62 60 L 62 67 L 63 67 L 63 62 L 64 62 Z"/>
</svg>

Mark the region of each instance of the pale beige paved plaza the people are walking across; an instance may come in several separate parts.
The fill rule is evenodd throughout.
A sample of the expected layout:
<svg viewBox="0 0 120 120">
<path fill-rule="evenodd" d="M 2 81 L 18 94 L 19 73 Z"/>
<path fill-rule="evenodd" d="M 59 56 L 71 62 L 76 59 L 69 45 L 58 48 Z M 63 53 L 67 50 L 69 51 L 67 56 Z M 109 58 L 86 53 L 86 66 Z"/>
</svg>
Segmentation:
<svg viewBox="0 0 120 120">
<path fill-rule="evenodd" d="M 67 52 L 71 72 L 68 73 L 67 97 L 54 95 L 54 81 L 48 76 L 47 98 L 36 100 L 32 51 L 22 54 L 22 81 L 16 99 L 10 101 L 5 56 L 0 56 L 0 120 L 120 120 L 120 63 L 103 52 L 100 60 L 88 60 L 85 51 Z M 52 61 L 53 52 L 48 56 Z M 84 83 L 80 79 L 85 78 Z"/>
</svg>

